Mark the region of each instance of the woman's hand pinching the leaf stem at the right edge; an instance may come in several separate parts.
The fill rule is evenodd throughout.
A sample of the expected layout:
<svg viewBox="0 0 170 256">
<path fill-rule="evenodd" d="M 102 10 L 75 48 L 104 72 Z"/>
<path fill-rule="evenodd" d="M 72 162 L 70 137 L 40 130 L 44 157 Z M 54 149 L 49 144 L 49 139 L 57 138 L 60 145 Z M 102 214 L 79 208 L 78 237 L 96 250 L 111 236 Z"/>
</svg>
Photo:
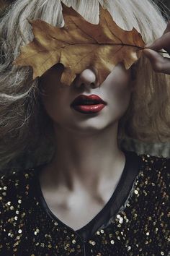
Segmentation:
<svg viewBox="0 0 170 256">
<path fill-rule="evenodd" d="M 161 38 L 155 40 L 151 45 L 146 46 L 143 53 L 151 61 L 153 70 L 165 74 L 170 74 L 170 58 L 166 58 L 158 54 L 157 51 L 164 49 L 170 55 L 170 21 Z"/>
</svg>

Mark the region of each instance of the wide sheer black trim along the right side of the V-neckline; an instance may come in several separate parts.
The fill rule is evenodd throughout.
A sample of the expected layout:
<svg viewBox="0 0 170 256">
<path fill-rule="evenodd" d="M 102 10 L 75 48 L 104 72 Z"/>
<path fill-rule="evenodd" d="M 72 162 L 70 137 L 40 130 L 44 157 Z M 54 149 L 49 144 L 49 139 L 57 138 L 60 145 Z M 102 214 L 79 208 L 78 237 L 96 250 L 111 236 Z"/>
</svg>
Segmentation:
<svg viewBox="0 0 170 256">
<path fill-rule="evenodd" d="M 125 167 L 112 197 L 110 197 L 107 204 L 104 205 L 104 208 L 100 210 L 97 216 L 87 223 L 86 226 L 76 230 L 84 239 L 94 234 L 104 222 L 116 216 L 118 210 L 128 198 L 133 181 L 140 171 L 140 157 L 134 152 L 125 151 L 124 153 L 126 158 Z"/>
</svg>

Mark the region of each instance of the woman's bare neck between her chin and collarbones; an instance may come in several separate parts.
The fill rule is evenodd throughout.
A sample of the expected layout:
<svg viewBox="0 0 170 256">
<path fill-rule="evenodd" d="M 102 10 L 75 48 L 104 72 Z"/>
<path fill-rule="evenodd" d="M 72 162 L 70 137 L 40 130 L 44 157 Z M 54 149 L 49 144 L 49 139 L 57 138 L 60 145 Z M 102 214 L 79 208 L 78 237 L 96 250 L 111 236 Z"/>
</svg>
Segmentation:
<svg viewBox="0 0 170 256">
<path fill-rule="evenodd" d="M 55 129 L 56 150 L 48 168 L 53 184 L 95 189 L 122 171 L 125 155 L 117 146 L 117 124 L 91 133 Z"/>
</svg>

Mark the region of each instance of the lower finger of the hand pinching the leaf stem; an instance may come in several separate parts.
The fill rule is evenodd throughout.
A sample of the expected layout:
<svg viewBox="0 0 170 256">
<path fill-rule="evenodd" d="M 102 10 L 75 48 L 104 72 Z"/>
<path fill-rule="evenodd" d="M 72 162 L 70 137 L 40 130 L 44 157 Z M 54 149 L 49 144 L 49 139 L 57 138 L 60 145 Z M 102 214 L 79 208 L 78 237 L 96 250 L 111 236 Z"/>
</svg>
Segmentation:
<svg viewBox="0 0 170 256">
<path fill-rule="evenodd" d="M 143 50 L 143 54 L 151 61 L 151 65 L 155 72 L 170 74 L 169 58 L 164 58 L 161 54 L 151 49 Z"/>
</svg>

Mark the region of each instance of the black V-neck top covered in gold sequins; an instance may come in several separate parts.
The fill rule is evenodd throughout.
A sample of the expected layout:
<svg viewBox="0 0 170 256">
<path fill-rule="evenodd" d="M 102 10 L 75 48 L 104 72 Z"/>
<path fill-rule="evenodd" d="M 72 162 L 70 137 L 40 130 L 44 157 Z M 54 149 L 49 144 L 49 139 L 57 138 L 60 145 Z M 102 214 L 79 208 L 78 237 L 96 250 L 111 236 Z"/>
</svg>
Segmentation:
<svg viewBox="0 0 170 256">
<path fill-rule="evenodd" d="M 37 167 L 1 174 L 0 255 L 170 255 L 170 161 L 151 155 L 136 159 L 133 182 L 126 166 L 109 202 L 85 226 L 90 229 L 86 232 L 71 229 L 50 212 Z"/>
</svg>

